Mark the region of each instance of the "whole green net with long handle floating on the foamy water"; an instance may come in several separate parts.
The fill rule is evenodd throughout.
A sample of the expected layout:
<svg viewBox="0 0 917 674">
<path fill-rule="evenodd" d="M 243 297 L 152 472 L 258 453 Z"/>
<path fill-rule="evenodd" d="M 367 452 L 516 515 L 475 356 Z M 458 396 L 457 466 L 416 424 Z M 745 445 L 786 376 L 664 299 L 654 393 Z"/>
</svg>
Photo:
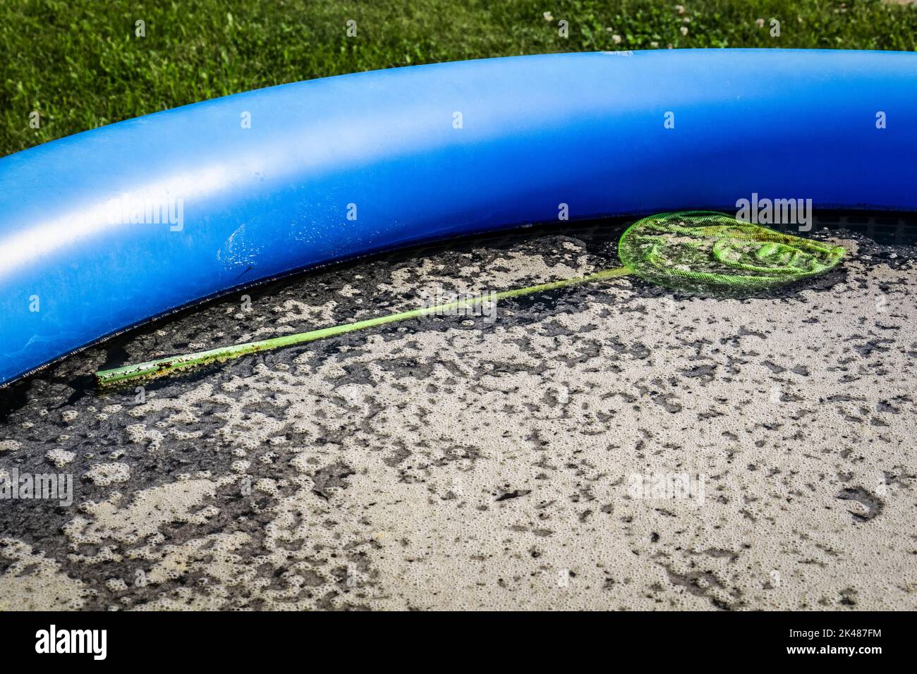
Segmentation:
<svg viewBox="0 0 917 674">
<path fill-rule="evenodd" d="M 624 267 L 596 271 L 588 276 L 482 294 L 470 300 L 426 306 L 295 335 L 149 360 L 138 365 L 101 370 L 95 373 L 95 377 L 100 385 L 161 377 L 271 348 L 291 347 L 355 330 L 436 315 L 437 312 L 468 307 L 485 300 L 493 303 L 580 283 L 609 281 L 629 273 L 635 273 L 648 282 L 692 293 L 753 294 L 822 274 L 833 269 L 844 257 L 844 249 L 839 246 L 781 234 L 713 211 L 684 211 L 645 217 L 624 232 L 618 242 L 618 252 Z"/>
</svg>

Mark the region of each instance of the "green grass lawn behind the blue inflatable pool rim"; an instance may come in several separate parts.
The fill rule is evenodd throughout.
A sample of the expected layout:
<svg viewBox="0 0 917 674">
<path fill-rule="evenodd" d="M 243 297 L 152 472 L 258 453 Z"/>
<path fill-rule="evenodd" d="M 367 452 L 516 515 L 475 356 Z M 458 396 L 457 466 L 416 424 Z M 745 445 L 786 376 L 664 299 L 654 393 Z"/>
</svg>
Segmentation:
<svg viewBox="0 0 917 674">
<path fill-rule="evenodd" d="M 770 36 L 772 18 L 780 21 L 779 38 Z M 144 38 L 135 36 L 138 19 L 146 22 Z M 349 19 L 357 22 L 355 38 L 346 34 Z M 558 36 L 560 19 L 569 22 L 568 38 Z M 879 0 L 2 0 L 0 154 L 314 77 L 669 46 L 913 51 L 917 7 Z M 29 125 L 32 111 L 39 128 Z"/>
</svg>

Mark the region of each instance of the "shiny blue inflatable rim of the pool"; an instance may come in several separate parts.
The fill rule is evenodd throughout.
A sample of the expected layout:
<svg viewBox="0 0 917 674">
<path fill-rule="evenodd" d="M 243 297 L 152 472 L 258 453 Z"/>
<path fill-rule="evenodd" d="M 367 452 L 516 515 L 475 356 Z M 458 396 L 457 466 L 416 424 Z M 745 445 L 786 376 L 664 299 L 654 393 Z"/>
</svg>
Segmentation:
<svg viewBox="0 0 917 674">
<path fill-rule="evenodd" d="M 0 384 L 240 285 L 555 221 L 558 204 L 571 220 L 752 193 L 913 211 L 915 157 L 903 52 L 527 56 L 187 105 L 0 159 Z M 172 222 L 132 222 L 157 200 Z"/>
</svg>

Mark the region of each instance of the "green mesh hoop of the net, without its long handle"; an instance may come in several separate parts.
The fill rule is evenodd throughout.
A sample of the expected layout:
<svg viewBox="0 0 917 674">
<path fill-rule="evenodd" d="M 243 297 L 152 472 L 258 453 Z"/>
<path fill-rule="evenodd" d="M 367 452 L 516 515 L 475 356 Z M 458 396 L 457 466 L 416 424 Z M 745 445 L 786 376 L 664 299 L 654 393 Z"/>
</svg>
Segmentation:
<svg viewBox="0 0 917 674">
<path fill-rule="evenodd" d="M 645 217 L 618 242 L 621 261 L 648 282 L 691 293 L 753 294 L 829 271 L 844 249 L 713 211 Z"/>
</svg>

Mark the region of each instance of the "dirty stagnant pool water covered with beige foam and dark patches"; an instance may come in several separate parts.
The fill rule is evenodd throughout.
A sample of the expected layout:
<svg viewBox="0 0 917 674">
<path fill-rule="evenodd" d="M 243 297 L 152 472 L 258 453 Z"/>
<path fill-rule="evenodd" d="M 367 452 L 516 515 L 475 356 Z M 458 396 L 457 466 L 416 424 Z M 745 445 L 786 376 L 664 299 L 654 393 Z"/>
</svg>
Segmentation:
<svg viewBox="0 0 917 674">
<path fill-rule="evenodd" d="M 72 486 L 0 503 L 0 608 L 917 608 L 917 222 L 825 214 L 842 264 L 751 298 L 625 277 L 94 390 L 612 268 L 624 227 L 313 271 L 8 387 L 0 472 Z"/>
</svg>

